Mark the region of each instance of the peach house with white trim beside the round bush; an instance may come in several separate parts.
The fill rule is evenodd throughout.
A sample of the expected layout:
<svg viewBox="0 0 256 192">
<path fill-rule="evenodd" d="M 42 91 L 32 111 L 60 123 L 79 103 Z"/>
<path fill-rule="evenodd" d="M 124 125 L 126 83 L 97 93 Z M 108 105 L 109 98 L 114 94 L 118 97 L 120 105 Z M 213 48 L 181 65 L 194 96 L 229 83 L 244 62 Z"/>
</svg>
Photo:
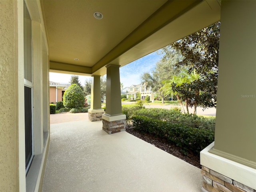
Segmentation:
<svg viewBox="0 0 256 192">
<path fill-rule="evenodd" d="M 50 81 L 50 103 L 58 102 L 63 100 L 63 94 L 65 90 L 70 86 L 70 83 L 56 83 Z"/>
</svg>

